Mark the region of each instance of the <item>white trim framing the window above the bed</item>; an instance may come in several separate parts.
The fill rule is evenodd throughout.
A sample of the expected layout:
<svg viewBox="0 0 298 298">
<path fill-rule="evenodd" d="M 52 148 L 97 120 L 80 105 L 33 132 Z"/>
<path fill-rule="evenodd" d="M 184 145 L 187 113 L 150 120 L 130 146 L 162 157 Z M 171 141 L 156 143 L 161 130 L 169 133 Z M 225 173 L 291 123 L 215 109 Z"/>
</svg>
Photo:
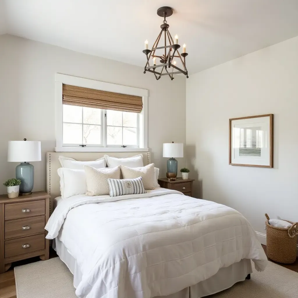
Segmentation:
<svg viewBox="0 0 298 298">
<path fill-rule="evenodd" d="M 63 147 L 62 84 L 142 97 L 143 144 L 140 144 L 140 148 Z M 56 147 L 55 147 L 56 152 L 148 152 L 148 90 L 56 73 L 55 74 L 55 134 L 56 134 Z"/>
</svg>

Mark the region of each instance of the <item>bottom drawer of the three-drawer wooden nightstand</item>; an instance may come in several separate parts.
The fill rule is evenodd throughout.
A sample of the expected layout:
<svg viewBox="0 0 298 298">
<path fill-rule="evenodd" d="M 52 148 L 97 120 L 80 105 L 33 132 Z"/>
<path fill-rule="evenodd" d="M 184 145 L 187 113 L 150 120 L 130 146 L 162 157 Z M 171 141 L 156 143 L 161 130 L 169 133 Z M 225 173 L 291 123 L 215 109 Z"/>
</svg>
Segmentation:
<svg viewBox="0 0 298 298">
<path fill-rule="evenodd" d="M 22 237 L 4 242 L 5 257 L 27 254 L 45 248 L 45 233 L 40 235 Z"/>
</svg>

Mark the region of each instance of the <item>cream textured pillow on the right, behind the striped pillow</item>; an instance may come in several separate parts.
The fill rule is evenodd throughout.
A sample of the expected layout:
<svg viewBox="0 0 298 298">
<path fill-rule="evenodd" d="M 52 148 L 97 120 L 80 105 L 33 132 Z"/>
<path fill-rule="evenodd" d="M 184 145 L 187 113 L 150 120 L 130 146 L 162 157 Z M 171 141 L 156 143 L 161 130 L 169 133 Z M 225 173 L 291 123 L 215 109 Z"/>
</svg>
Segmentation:
<svg viewBox="0 0 298 298">
<path fill-rule="evenodd" d="M 142 177 L 145 190 L 155 188 L 154 164 L 148 164 L 147 166 L 139 167 L 138 169 L 121 165 L 120 169 L 123 179 L 134 179 Z"/>
</svg>

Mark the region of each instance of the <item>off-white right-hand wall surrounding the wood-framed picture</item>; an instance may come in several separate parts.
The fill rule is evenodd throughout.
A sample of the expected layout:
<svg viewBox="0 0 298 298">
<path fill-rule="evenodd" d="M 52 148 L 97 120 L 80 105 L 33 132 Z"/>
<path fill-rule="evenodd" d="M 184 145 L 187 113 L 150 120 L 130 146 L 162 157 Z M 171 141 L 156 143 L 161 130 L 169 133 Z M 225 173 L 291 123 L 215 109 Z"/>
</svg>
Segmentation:
<svg viewBox="0 0 298 298">
<path fill-rule="evenodd" d="M 258 232 L 298 221 L 298 37 L 191 75 L 187 165 L 204 199 L 240 211 Z M 274 168 L 229 165 L 229 118 L 274 114 Z"/>
</svg>

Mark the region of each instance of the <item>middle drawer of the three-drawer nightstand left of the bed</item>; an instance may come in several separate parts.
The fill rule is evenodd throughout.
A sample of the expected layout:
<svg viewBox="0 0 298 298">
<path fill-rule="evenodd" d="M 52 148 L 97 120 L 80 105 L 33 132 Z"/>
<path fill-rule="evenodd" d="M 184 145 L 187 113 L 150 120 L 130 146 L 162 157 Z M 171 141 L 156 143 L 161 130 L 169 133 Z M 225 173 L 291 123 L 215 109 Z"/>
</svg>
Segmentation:
<svg viewBox="0 0 298 298">
<path fill-rule="evenodd" d="M 44 232 L 45 216 L 34 216 L 5 221 L 4 238 L 24 237 Z"/>
</svg>

